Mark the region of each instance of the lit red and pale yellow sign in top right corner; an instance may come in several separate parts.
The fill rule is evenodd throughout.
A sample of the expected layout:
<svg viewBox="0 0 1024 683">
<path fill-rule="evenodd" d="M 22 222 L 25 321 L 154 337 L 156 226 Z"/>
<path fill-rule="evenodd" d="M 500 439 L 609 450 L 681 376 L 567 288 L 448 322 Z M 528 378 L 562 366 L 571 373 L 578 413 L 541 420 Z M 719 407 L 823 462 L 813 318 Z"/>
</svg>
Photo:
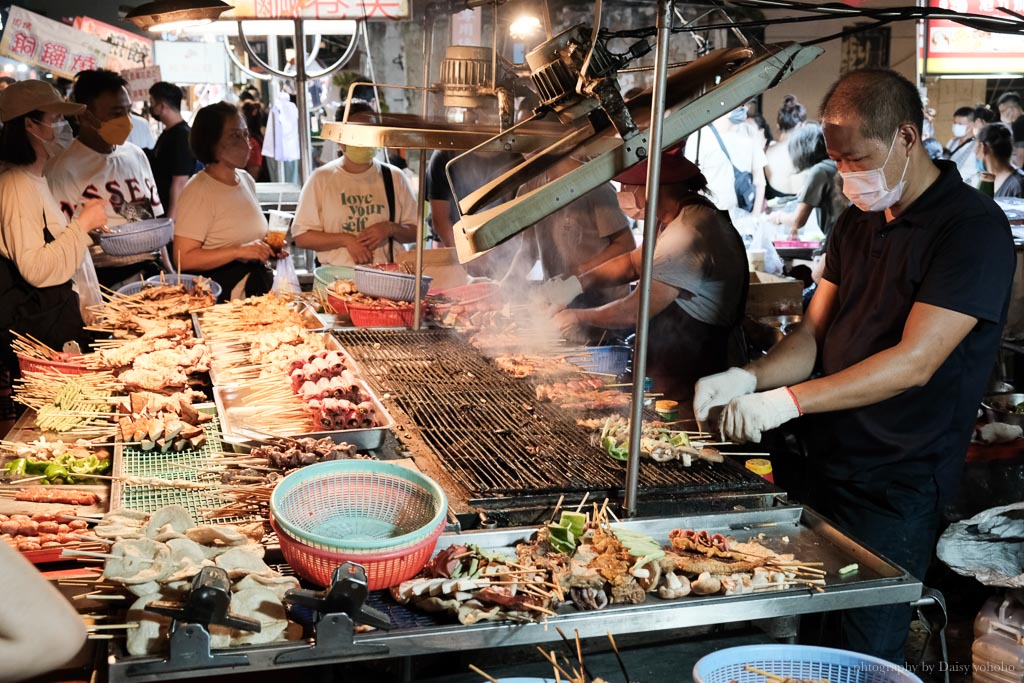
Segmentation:
<svg viewBox="0 0 1024 683">
<path fill-rule="evenodd" d="M 1024 0 L 929 0 L 929 6 L 1007 18 L 999 7 L 1024 12 Z M 929 75 L 1024 72 L 1024 36 L 987 33 L 946 19 L 926 22 L 923 54 Z"/>
</svg>

